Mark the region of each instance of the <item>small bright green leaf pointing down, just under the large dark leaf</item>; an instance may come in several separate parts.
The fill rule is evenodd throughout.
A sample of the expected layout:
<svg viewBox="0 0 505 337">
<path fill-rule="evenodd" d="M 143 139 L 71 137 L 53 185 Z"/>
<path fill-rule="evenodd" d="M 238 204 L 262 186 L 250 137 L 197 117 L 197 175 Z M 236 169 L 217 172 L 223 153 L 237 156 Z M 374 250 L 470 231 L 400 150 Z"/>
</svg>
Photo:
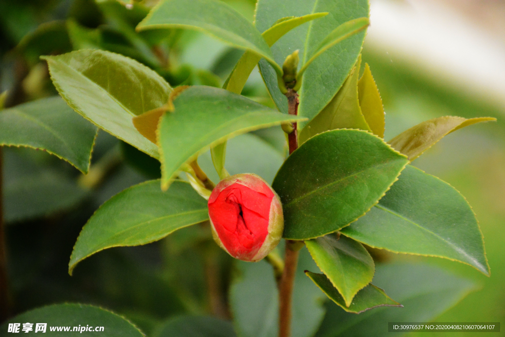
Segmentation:
<svg viewBox="0 0 505 337">
<path fill-rule="evenodd" d="M 346 307 L 372 281 L 374 260 L 359 242 L 343 235 L 328 234 L 308 240 L 305 245 L 332 287 L 340 293 Z"/>
</svg>

